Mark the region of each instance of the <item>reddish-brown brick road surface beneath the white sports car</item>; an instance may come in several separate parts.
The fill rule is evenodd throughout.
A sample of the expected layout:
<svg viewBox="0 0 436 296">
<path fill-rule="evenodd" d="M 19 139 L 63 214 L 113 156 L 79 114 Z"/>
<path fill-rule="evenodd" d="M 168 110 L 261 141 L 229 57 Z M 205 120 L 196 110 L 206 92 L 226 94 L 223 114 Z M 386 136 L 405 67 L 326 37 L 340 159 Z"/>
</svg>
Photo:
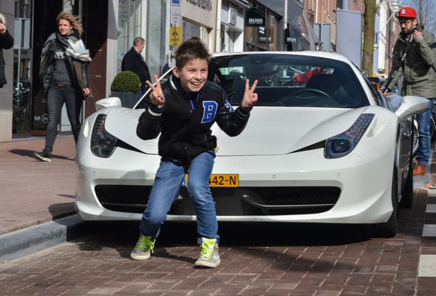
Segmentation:
<svg viewBox="0 0 436 296">
<path fill-rule="evenodd" d="M 193 269 L 193 224 L 165 224 L 152 257 L 134 261 L 137 225 L 106 223 L 0 264 L 1 295 L 434 296 L 434 278 L 417 277 L 427 199 L 415 190 L 415 205 L 401 210 L 399 233 L 389 239 L 343 225 L 220 223 L 216 269 Z"/>
</svg>

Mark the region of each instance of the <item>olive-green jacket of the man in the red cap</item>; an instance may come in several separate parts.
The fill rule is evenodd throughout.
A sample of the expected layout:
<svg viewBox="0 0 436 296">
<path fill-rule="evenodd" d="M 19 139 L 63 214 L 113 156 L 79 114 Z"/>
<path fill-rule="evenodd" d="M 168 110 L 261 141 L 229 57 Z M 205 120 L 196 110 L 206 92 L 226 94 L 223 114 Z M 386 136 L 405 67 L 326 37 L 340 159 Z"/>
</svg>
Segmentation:
<svg viewBox="0 0 436 296">
<path fill-rule="evenodd" d="M 400 66 L 398 73 L 387 88 L 392 89 L 401 75 L 404 75 L 404 84 L 401 95 L 415 95 L 432 99 L 436 97 L 436 49 L 429 45 L 435 42 L 433 34 L 427 32 L 421 24 L 417 24 L 417 30 L 422 33 L 422 40 L 415 41 L 407 53 L 404 65 Z M 412 37 L 411 37 L 412 38 Z M 398 62 L 406 49 L 406 38 L 400 33 L 398 40 L 393 47 L 393 67 Z M 389 73 L 392 75 L 393 71 Z"/>
</svg>

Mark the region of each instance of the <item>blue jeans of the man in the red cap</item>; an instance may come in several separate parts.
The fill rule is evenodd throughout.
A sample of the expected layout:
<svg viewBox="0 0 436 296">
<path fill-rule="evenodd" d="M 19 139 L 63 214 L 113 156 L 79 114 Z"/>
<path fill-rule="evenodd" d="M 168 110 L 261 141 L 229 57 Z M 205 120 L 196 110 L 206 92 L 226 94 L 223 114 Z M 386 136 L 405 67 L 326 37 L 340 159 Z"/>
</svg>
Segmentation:
<svg viewBox="0 0 436 296">
<path fill-rule="evenodd" d="M 428 158 L 430 158 L 430 119 L 435 99 L 428 99 L 428 101 L 430 101 L 430 108 L 426 112 L 416 115 L 418 134 L 420 135 L 416 160 L 424 165 L 428 164 Z"/>
</svg>

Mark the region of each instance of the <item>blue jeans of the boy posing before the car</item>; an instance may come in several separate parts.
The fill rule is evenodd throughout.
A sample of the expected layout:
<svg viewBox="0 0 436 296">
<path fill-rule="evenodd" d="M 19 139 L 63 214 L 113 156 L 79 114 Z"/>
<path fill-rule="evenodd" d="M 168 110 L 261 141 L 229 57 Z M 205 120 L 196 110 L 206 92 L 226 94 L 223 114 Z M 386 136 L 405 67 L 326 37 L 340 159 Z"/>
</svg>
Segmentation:
<svg viewBox="0 0 436 296">
<path fill-rule="evenodd" d="M 217 213 L 209 188 L 214 160 L 214 157 L 207 152 L 183 166 L 178 166 L 165 158 L 160 160 L 147 208 L 141 219 L 139 227 L 141 234 L 152 237 L 159 235 L 160 226 L 167 219 L 167 212 L 178 196 L 184 174 L 187 173 L 189 177 L 186 188 L 195 207 L 199 239 L 217 238 L 219 241 Z"/>
</svg>

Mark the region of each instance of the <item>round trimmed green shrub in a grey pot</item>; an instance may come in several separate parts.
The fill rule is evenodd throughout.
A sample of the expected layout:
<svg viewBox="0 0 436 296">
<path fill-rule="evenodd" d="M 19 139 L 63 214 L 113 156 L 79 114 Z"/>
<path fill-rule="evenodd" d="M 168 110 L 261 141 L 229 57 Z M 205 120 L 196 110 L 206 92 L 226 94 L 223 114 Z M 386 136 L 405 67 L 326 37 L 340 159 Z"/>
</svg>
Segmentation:
<svg viewBox="0 0 436 296">
<path fill-rule="evenodd" d="M 132 71 L 122 71 L 118 73 L 110 86 L 110 96 L 119 97 L 121 106 L 133 108 L 138 101 L 138 90 L 141 81 L 138 75 Z"/>
</svg>

